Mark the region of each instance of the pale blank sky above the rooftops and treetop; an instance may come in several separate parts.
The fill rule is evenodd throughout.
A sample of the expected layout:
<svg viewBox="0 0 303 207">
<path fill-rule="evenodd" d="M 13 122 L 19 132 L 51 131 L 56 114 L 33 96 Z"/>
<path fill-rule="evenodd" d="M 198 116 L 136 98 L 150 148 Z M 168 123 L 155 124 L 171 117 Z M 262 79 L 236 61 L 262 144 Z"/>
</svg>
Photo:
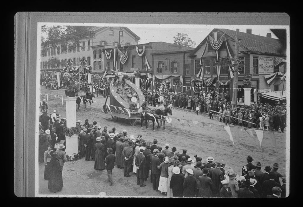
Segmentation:
<svg viewBox="0 0 303 207">
<path fill-rule="evenodd" d="M 246 32 L 246 29 L 252 29 L 252 34 L 265 36 L 271 33 L 272 38 L 277 38 L 271 31 L 271 28 L 285 28 L 283 26 L 270 25 L 165 25 L 165 24 L 95 24 L 95 23 L 40 23 L 48 27 L 54 25 L 81 25 L 81 26 L 112 26 L 112 27 L 128 27 L 132 32 L 138 35 L 141 39 L 138 44 L 148 42 L 168 42 L 173 43 L 174 36 L 179 33 L 188 34 L 192 41 L 196 42 L 198 46 L 200 42 L 213 30 L 214 28 L 226 28 L 236 30 L 239 28 L 240 32 Z M 43 34 L 42 34 L 43 36 Z M 278 39 L 278 38 L 277 38 Z"/>
</svg>

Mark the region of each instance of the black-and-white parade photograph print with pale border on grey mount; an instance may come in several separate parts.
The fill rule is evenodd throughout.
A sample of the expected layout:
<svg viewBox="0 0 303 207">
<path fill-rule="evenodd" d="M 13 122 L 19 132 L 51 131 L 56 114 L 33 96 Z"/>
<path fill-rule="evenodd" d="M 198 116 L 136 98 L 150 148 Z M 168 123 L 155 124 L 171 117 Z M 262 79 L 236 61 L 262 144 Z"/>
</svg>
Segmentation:
<svg viewBox="0 0 303 207">
<path fill-rule="evenodd" d="M 287 197 L 289 54 L 289 25 L 38 22 L 35 197 Z"/>
</svg>

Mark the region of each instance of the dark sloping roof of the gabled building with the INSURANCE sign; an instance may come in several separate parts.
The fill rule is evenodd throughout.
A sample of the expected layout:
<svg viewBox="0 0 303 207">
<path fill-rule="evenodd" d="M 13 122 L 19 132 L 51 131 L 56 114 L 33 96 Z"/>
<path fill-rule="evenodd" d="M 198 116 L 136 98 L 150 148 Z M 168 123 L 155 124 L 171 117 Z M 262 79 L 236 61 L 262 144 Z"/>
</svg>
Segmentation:
<svg viewBox="0 0 303 207">
<path fill-rule="evenodd" d="M 236 31 L 230 29 L 214 29 L 216 31 L 221 30 L 225 35 L 232 39 L 235 39 Z M 214 31 L 212 30 L 212 32 Z M 191 53 L 194 55 L 195 52 L 205 44 L 206 38 L 198 45 L 198 47 Z M 239 51 L 240 52 L 259 52 L 269 53 L 275 55 L 286 55 L 286 51 L 282 47 L 282 42 L 279 39 L 264 37 L 260 35 L 253 35 L 246 32 L 239 32 Z"/>
</svg>

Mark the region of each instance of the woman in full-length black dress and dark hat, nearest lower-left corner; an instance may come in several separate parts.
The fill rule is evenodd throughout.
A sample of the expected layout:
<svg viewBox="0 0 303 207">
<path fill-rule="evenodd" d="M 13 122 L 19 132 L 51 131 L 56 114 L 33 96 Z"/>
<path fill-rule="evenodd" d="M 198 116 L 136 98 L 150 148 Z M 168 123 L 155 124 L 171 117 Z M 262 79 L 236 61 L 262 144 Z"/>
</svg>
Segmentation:
<svg viewBox="0 0 303 207">
<path fill-rule="evenodd" d="M 51 192 L 59 192 L 63 188 L 62 170 L 57 158 L 58 152 L 52 151 L 52 159 L 48 164 L 48 189 Z"/>
</svg>

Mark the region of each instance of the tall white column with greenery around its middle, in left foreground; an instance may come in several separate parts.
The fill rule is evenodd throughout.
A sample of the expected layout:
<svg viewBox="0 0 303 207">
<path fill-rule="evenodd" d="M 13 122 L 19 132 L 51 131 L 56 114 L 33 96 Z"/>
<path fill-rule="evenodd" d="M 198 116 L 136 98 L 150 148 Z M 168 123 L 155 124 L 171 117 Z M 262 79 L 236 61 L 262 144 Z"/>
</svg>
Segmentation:
<svg viewBox="0 0 303 207">
<path fill-rule="evenodd" d="M 66 97 L 66 126 L 76 127 L 76 99 L 77 97 Z M 73 157 L 78 153 L 78 135 L 65 136 L 66 154 Z"/>
</svg>

